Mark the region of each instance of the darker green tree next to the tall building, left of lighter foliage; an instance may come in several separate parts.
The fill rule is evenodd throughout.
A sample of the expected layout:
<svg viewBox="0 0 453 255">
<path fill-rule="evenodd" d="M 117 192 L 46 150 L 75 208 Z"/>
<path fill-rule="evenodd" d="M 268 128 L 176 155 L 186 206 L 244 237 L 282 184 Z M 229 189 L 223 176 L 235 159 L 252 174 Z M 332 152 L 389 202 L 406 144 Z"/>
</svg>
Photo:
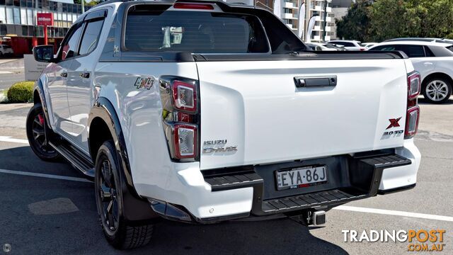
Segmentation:
<svg viewBox="0 0 453 255">
<path fill-rule="evenodd" d="M 338 38 L 345 40 L 368 39 L 369 7 L 371 0 L 357 0 L 348 8 L 348 13 L 340 20 L 336 20 Z"/>
</svg>

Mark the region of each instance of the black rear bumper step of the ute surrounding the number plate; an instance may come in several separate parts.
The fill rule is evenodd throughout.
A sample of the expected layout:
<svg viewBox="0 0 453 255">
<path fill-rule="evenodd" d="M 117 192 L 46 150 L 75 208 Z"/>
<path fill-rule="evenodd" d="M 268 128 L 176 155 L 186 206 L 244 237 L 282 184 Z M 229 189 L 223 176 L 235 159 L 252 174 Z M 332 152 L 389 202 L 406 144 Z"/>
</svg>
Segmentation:
<svg viewBox="0 0 453 255">
<path fill-rule="evenodd" d="M 330 161 L 333 162 L 334 158 L 340 163 L 335 165 L 338 166 L 338 169 L 332 169 L 332 171 L 336 171 L 337 174 L 340 171 L 339 176 L 342 177 L 331 179 L 330 186 L 296 188 L 294 191 L 289 191 L 292 193 L 277 191 L 275 175 L 270 172 L 285 168 L 287 164 L 294 167 L 294 164 L 305 164 L 306 162 L 253 166 L 253 169 L 247 169 L 248 171 L 244 171 L 242 174 L 237 171 L 234 174 L 223 171 L 223 174 L 216 175 L 205 174 L 209 173 L 208 171 L 202 172 L 205 174 L 205 181 L 210 184 L 212 192 L 253 187 L 251 214 L 263 216 L 298 210 L 312 210 L 319 206 L 333 208 L 352 200 L 376 196 L 384 169 L 412 163 L 411 159 L 395 154 L 394 150 L 360 153 L 356 154 L 355 157 L 342 155 L 332 157 Z M 324 163 L 323 160 L 326 159 L 314 159 L 311 162 L 328 164 Z M 311 162 L 307 164 L 311 164 Z M 340 181 L 340 178 L 346 179 L 346 181 Z"/>
</svg>

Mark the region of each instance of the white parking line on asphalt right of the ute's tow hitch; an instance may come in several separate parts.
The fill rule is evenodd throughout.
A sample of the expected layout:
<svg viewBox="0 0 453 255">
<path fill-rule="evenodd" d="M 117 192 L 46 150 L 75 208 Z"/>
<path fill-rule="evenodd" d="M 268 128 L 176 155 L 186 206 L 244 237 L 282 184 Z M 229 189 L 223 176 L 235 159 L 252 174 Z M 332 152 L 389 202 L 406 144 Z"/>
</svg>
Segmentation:
<svg viewBox="0 0 453 255">
<path fill-rule="evenodd" d="M 448 222 L 453 222 L 453 217 L 449 216 L 442 216 L 442 215 L 428 215 L 425 213 L 418 213 L 418 212 L 403 212 L 403 211 L 396 211 L 396 210 L 383 210 L 383 209 L 375 209 L 375 208 L 361 208 L 355 206 L 348 206 L 348 205 L 340 205 L 335 210 L 347 210 L 352 212 L 367 212 L 367 213 L 376 213 L 381 215 L 395 215 L 395 216 L 403 216 L 403 217 L 417 217 L 421 219 L 427 220 L 443 220 Z"/>
</svg>

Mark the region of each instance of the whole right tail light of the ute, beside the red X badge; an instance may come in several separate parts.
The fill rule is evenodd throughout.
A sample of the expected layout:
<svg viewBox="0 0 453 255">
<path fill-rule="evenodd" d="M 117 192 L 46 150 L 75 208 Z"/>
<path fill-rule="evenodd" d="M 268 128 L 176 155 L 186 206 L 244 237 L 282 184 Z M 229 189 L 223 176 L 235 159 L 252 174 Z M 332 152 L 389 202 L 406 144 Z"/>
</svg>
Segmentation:
<svg viewBox="0 0 453 255">
<path fill-rule="evenodd" d="M 421 78 L 420 73 L 412 72 L 408 74 L 408 103 L 406 111 L 406 128 L 404 139 L 412 138 L 418 130 L 418 120 L 420 119 L 420 107 L 417 104 L 417 97 L 420 94 Z"/>
</svg>

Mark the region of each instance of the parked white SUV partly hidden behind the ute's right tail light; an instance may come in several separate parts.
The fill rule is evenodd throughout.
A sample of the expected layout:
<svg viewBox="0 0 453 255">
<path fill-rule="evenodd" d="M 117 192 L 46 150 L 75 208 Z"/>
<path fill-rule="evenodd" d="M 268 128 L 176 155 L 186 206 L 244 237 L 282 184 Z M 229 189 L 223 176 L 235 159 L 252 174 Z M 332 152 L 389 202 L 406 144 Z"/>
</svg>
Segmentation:
<svg viewBox="0 0 453 255">
<path fill-rule="evenodd" d="M 422 78 L 422 93 L 431 103 L 445 103 L 452 96 L 453 45 L 425 41 L 389 41 L 368 50 L 401 50 Z"/>
</svg>

